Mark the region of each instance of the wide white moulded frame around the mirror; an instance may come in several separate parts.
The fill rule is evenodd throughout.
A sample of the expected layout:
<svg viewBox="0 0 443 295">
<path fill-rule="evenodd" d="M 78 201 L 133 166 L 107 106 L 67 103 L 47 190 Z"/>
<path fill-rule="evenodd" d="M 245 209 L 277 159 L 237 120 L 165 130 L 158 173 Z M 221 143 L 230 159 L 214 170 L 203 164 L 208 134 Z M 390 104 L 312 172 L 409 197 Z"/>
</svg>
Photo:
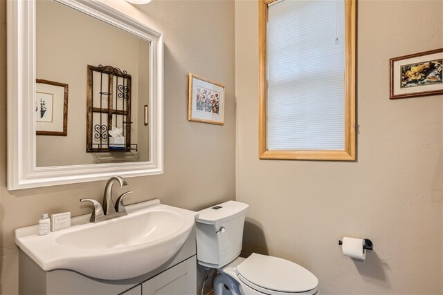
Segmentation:
<svg viewBox="0 0 443 295">
<path fill-rule="evenodd" d="M 8 189 L 105 180 L 111 175 L 163 173 L 163 34 L 99 1 L 55 1 L 150 41 L 150 161 L 36 166 L 35 1 L 7 1 Z"/>
</svg>

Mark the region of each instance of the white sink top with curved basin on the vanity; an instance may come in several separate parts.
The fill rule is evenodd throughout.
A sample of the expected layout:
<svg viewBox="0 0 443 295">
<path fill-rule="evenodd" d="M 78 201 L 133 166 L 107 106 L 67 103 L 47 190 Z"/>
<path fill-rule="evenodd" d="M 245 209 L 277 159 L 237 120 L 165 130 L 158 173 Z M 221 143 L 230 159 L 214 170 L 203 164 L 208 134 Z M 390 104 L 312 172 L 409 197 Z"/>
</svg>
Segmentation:
<svg viewBox="0 0 443 295">
<path fill-rule="evenodd" d="M 45 271 L 71 269 L 93 278 L 119 280 L 151 272 L 179 251 L 198 213 L 160 204 L 129 205 L 127 216 L 81 223 L 38 236 L 38 227 L 15 230 L 15 243 Z M 87 222 L 87 223 L 83 223 Z"/>
</svg>

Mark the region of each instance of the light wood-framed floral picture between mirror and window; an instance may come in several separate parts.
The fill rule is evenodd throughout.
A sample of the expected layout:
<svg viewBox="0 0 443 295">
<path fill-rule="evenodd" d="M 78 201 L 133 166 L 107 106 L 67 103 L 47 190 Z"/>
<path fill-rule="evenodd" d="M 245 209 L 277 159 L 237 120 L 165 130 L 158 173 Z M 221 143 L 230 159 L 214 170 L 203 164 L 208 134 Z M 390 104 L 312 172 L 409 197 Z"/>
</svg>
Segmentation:
<svg viewBox="0 0 443 295">
<path fill-rule="evenodd" d="M 224 125 L 225 86 L 189 73 L 188 121 Z"/>
</svg>

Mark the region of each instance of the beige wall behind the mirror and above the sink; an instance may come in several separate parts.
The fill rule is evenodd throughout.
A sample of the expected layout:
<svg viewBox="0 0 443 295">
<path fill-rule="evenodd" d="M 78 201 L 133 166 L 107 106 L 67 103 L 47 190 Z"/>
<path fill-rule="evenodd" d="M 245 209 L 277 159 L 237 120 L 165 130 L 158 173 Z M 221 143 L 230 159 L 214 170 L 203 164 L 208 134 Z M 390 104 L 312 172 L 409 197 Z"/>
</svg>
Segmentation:
<svg viewBox="0 0 443 295">
<path fill-rule="evenodd" d="M 233 1 L 152 1 L 109 5 L 164 33 L 165 173 L 128 178 L 128 202 L 159 198 L 165 204 L 202 209 L 235 197 L 235 48 Z M 225 38 L 226 36 L 226 38 Z M 215 41 L 214 37 L 221 37 Z M 226 84 L 226 124 L 187 121 L 188 72 Z M 13 230 L 41 213 L 88 213 L 79 198 L 101 200 L 105 182 L 8 191 L 6 188 L 6 1 L 0 1 L 0 228 L 1 294 L 18 292 Z"/>
</svg>

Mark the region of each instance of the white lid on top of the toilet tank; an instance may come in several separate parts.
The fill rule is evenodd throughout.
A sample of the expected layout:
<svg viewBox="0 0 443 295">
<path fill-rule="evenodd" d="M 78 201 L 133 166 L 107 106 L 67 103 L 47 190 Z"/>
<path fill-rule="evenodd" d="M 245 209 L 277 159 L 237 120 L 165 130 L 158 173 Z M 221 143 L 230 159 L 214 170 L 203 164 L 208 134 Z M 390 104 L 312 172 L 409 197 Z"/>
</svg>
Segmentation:
<svg viewBox="0 0 443 295">
<path fill-rule="evenodd" d="M 242 202 L 228 201 L 199 211 L 197 222 L 208 225 L 218 225 L 227 220 L 231 220 L 246 214 L 249 205 Z"/>
</svg>

